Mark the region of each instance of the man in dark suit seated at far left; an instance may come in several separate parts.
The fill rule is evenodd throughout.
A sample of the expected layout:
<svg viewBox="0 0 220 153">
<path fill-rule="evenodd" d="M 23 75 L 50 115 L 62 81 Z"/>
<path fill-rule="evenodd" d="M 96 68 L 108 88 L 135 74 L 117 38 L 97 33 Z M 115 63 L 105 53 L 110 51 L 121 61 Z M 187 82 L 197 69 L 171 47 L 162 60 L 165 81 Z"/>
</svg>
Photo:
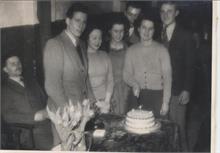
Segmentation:
<svg viewBox="0 0 220 153">
<path fill-rule="evenodd" d="M 22 77 L 22 65 L 18 56 L 7 56 L 3 66 L 3 73 L 7 76 L 2 83 L 1 91 L 3 120 L 6 123 L 33 126 L 35 147 L 30 144 L 30 131 L 21 128 L 21 149 L 50 149 L 51 125 L 49 120 L 45 120 L 47 114 L 43 109 L 46 105 L 46 95 L 35 80 Z"/>
</svg>

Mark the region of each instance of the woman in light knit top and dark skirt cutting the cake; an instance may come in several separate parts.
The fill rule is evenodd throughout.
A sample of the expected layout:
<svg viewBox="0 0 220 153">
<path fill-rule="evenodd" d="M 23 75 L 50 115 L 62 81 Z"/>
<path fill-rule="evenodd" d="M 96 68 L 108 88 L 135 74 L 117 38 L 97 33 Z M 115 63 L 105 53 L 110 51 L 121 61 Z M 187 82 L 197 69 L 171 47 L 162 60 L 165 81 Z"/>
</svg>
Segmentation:
<svg viewBox="0 0 220 153">
<path fill-rule="evenodd" d="M 171 96 L 171 64 L 168 50 L 153 40 L 154 20 L 143 16 L 138 27 L 140 42 L 127 50 L 123 78 L 133 89 L 130 109 L 143 105 L 156 118 L 169 112 Z M 133 104 L 132 104 L 133 103 Z"/>
</svg>

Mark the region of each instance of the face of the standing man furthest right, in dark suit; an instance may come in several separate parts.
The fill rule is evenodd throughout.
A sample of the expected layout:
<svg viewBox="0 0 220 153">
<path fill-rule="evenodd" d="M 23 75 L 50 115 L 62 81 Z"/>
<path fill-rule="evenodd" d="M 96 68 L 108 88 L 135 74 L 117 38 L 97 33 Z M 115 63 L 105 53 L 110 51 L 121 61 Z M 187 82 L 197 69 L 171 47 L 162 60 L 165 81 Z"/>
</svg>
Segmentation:
<svg viewBox="0 0 220 153">
<path fill-rule="evenodd" d="M 179 11 L 176 10 L 174 4 L 162 4 L 160 8 L 160 18 L 164 25 L 169 25 L 175 22 L 175 18 L 178 16 Z"/>
</svg>

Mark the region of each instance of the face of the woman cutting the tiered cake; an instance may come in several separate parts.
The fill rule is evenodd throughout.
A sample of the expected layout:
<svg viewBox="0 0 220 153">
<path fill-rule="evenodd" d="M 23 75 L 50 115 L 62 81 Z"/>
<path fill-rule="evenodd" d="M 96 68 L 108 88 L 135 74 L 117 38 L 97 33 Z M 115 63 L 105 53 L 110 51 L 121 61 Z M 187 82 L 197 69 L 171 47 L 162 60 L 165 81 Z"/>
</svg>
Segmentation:
<svg viewBox="0 0 220 153">
<path fill-rule="evenodd" d="M 150 20 L 143 20 L 138 28 L 141 41 L 151 41 L 154 35 L 154 23 Z"/>
</svg>

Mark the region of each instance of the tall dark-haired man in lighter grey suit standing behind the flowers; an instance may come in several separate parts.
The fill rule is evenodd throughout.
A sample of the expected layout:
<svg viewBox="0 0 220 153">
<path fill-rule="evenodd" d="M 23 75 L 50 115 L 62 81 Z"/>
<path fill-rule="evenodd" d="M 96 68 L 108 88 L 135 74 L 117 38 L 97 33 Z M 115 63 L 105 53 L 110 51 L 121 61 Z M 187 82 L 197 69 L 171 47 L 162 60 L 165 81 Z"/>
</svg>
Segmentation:
<svg viewBox="0 0 220 153">
<path fill-rule="evenodd" d="M 45 88 L 49 96 L 48 108 L 55 112 L 69 100 L 73 104 L 89 99 L 95 102 L 88 77 L 88 61 L 85 45 L 79 39 L 86 27 L 87 8 L 73 4 L 66 13 L 66 29 L 48 40 L 44 50 Z M 62 110 L 62 109 L 61 109 Z M 54 132 L 54 145 L 60 143 Z"/>
</svg>

